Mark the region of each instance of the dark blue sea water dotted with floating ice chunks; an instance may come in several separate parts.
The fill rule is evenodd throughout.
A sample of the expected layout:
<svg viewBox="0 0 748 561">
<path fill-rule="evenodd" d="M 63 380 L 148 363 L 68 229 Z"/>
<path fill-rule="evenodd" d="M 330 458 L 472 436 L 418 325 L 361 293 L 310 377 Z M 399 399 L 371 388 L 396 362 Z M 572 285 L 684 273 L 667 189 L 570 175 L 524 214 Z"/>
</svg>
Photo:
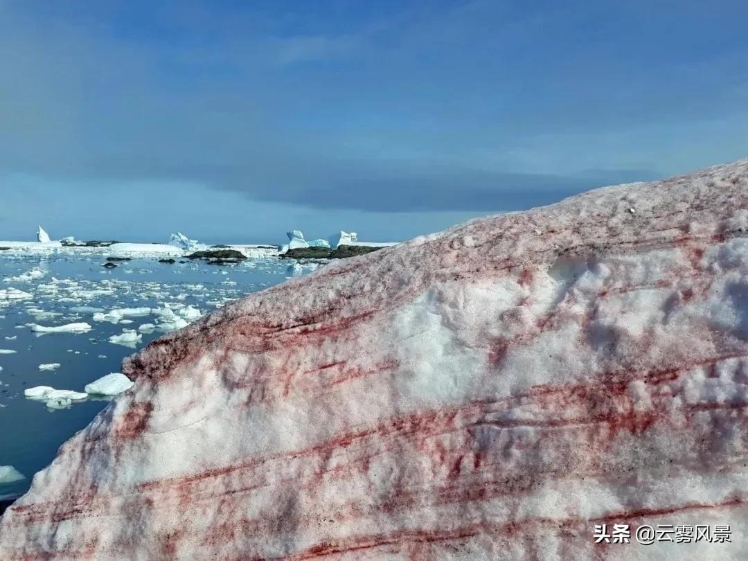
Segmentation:
<svg viewBox="0 0 748 561">
<path fill-rule="evenodd" d="M 110 343 L 123 328 L 137 329 L 159 323 L 157 316 L 131 317 L 132 323 L 94 321 L 91 310 L 126 307 L 191 305 L 207 313 L 226 301 L 241 298 L 292 275 L 288 262 L 275 257 L 247 260 L 239 266 L 188 262 L 168 265 L 156 258 L 123 262 L 104 269 L 102 256 L 11 257 L 0 254 L 0 290 L 13 287 L 33 298 L 3 304 L 0 301 L 0 466 L 12 465 L 25 476 L 0 482 L 0 498 L 22 494 L 31 477 L 52 462 L 58 447 L 84 428 L 107 405 L 89 398 L 66 408 L 49 408 L 45 402 L 23 396 L 38 385 L 82 391 L 85 384 L 108 373 L 120 372 L 124 357 L 141 349 L 162 332 L 144 334 L 135 349 Z M 38 278 L 20 278 L 29 271 Z M 296 270 L 298 274 L 298 268 Z M 38 336 L 28 324 L 64 325 L 88 322 L 85 334 Z M 56 370 L 39 370 L 40 364 L 59 363 Z"/>
</svg>

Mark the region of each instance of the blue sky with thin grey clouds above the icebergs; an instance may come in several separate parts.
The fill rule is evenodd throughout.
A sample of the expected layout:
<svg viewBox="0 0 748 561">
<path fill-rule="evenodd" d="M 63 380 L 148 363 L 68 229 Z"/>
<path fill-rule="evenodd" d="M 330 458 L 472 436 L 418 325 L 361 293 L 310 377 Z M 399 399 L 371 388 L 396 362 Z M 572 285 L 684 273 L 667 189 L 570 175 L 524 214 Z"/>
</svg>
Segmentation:
<svg viewBox="0 0 748 561">
<path fill-rule="evenodd" d="M 0 0 L 0 239 L 404 239 L 748 156 L 738 1 Z"/>
</svg>

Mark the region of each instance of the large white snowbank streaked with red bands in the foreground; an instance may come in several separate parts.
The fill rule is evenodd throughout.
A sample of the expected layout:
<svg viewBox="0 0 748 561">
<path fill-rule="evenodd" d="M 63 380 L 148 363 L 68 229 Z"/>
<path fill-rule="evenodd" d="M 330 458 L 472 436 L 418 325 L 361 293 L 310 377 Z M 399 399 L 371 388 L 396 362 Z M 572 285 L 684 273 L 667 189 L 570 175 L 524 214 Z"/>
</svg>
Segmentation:
<svg viewBox="0 0 748 561">
<path fill-rule="evenodd" d="M 741 161 L 229 304 L 126 361 L 0 558 L 745 559 L 747 236 Z"/>
</svg>

